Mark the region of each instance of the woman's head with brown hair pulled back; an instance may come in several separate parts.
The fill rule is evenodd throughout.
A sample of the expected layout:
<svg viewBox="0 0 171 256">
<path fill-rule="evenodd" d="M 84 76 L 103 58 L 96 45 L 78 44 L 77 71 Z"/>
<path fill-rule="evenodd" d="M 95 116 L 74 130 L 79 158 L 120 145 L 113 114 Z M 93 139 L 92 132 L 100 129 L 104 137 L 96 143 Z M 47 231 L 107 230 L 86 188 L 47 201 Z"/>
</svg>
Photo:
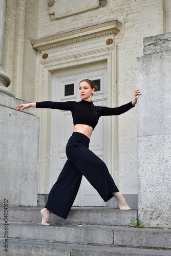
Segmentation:
<svg viewBox="0 0 171 256">
<path fill-rule="evenodd" d="M 91 101 L 92 94 L 94 93 L 95 89 L 91 88 L 88 82 L 80 82 L 79 84 L 79 95 L 82 99 Z"/>
</svg>

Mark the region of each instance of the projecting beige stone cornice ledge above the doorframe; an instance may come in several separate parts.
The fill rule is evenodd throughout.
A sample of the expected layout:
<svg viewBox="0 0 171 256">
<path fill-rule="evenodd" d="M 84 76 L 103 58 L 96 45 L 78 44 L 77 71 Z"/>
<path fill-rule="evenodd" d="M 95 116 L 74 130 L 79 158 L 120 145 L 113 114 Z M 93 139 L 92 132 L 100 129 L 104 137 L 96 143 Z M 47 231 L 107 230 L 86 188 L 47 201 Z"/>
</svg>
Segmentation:
<svg viewBox="0 0 171 256">
<path fill-rule="evenodd" d="M 59 33 L 57 35 L 37 39 L 32 41 L 32 45 L 38 51 L 42 51 L 104 35 L 116 35 L 120 31 L 121 26 L 122 24 L 119 23 L 118 20 L 113 20 L 112 22 L 102 23 L 87 28 L 81 28 L 70 32 Z"/>
</svg>

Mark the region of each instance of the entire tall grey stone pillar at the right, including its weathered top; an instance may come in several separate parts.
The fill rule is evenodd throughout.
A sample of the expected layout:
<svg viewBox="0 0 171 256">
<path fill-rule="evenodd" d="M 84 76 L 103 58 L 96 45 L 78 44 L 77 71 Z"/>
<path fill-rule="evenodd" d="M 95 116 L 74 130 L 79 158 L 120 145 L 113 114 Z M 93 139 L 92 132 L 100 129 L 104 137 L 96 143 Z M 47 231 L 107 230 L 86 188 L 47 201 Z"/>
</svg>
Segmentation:
<svg viewBox="0 0 171 256">
<path fill-rule="evenodd" d="M 143 40 L 137 59 L 138 215 L 146 227 L 171 227 L 171 32 Z"/>
</svg>

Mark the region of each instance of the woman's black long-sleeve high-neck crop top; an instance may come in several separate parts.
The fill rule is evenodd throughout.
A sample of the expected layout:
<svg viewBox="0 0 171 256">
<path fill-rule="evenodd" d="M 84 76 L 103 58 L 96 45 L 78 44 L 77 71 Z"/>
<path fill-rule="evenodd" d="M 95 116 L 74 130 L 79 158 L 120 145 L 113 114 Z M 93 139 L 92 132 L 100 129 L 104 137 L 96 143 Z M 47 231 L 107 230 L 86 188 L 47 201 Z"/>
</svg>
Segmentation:
<svg viewBox="0 0 171 256">
<path fill-rule="evenodd" d="M 117 108 L 108 108 L 106 106 L 95 106 L 93 102 L 87 100 L 55 102 L 55 101 L 42 101 L 36 102 L 36 108 L 69 110 L 72 113 L 73 122 L 75 124 L 87 124 L 93 127 L 98 123 L 100 116 L 120 115 L 129 111 L 134 106 L 131 102 L 119 106 Z"/>
</svg>

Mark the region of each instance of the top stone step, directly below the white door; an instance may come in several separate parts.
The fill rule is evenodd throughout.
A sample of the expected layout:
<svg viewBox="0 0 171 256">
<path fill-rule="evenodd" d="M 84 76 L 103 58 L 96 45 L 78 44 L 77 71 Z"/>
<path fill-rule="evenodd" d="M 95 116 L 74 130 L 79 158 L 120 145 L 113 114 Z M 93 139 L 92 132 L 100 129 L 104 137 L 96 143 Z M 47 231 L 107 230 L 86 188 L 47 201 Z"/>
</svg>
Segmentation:
<svg viewBox="0 0 171 256">
<path fill-rule="evenodd" d="M 8 221 L 30 222 L 41 221 L 42 207 L 8 207 Z M 0 221 L 4 220 L 4 208 L 0 207 Z M 72 207 L 67 220 L 51 214 L 49 223 L 132 226 L 137 221 L 137 210 L 119 210 L 106 207 Z"/>
</svg>

